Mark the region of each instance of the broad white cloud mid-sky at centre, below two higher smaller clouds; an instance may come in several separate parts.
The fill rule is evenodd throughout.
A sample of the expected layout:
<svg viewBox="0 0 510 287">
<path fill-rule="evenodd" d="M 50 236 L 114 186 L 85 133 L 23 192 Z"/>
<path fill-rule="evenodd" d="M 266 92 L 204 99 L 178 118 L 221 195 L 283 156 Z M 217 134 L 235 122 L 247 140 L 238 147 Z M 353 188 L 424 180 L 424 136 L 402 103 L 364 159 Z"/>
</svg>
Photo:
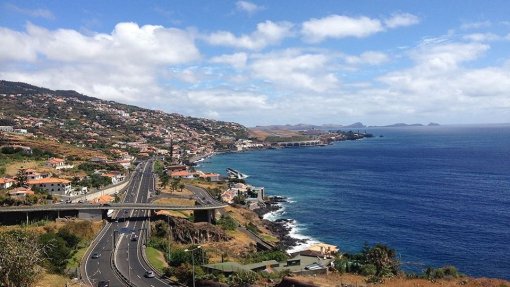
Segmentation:
<svg viewBox="0 0 510 287">
<path fill-rule="evenodd" d="M 330 59 L 324 54 L 285 50 L 253 57 L 250 69 L 256 77 L 287 89 L 323 92 L 339 85 Z"/>
</svg>

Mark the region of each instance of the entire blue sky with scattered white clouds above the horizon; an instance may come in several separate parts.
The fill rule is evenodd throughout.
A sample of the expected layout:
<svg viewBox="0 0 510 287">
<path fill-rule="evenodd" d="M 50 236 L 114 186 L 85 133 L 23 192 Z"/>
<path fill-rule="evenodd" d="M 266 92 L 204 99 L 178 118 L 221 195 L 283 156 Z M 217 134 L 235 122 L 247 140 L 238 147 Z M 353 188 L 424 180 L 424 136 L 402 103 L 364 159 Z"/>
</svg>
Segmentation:
<svg viewBox="0 0 510 287">
<path fill-rule="evenodd" d="M 0 1 L 0 79 L 269 124 L 510 122 L 506 0 Z"/>
</svg>

